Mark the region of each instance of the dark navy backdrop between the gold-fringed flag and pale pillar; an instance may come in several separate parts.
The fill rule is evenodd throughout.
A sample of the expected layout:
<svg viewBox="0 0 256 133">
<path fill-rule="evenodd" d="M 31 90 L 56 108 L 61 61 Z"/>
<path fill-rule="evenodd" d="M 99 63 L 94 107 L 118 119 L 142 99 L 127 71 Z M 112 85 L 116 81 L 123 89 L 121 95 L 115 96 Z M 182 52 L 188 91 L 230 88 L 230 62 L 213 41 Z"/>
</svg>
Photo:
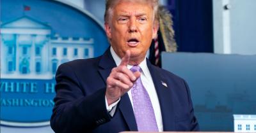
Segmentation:
<svg viewBox="0 0 256 133">
<path fill-rule="evenodd" d="M 169 0 L 179 52 L 213 52 L 211 0 Z"/>
</svg>

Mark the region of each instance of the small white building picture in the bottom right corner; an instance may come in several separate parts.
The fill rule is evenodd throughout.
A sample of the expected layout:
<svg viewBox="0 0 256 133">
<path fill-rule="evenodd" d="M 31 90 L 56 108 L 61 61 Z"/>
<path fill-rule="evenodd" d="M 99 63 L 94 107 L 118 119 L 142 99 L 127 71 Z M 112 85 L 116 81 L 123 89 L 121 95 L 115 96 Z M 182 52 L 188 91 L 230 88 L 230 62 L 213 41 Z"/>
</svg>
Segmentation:
<svg viewBox="0 0 256 133">
<path fill-rule="evenodd" d="M 234 132 L 256 132 L 256 115 L 233 115 Z"/>
</svg>

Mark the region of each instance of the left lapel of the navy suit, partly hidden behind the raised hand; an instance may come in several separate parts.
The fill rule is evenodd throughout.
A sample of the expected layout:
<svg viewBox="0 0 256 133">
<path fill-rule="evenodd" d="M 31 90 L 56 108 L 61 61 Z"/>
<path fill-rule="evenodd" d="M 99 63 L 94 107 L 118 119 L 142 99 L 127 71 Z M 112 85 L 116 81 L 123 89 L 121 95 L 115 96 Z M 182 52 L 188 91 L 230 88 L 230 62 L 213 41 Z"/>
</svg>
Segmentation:
<svg viewBox="0 0 256 133">
<path fill-rule="evenodd" d="M 106 80 L 111 73 L 113 67 L 116 67 L 115 60 L 113 59 L 110 50 L 108 50 L 102 55 L 100 62 L 99 62 L 99 73 L 102 76 L 103 80 L 106 83 Z M 135 116 L 133 113 L 131 101 L 129 99 L 128 94 L 124 94 L 120 102 L 118 104 L 118 108 L 120 112 L 124 116 L 124 120 L 127 123 L 129 130 L 138 130 L 136 125 Z"/>
</svg>

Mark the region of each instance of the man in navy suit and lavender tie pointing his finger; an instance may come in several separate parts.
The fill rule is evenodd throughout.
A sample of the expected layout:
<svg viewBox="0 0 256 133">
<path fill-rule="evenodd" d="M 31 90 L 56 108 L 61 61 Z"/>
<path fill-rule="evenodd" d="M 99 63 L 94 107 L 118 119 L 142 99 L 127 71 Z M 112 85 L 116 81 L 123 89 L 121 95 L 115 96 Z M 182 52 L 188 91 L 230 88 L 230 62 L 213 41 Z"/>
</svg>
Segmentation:
<svg viewBox="0 0 256 133">
<path fill-rule="evenodd" d="M 157 0 L 107 0 L 111 46 L 56 73 L 55 132 L 198 130 L 186 81 L 146 59 L 158 29 Z"/>
</svg>

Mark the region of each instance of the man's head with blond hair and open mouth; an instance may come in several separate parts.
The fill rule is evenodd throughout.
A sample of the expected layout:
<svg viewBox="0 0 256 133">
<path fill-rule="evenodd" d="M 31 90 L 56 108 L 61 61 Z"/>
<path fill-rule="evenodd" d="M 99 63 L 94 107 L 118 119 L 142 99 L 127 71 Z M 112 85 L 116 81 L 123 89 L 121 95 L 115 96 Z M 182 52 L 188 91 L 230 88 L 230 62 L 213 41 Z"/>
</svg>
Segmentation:
<svg viewBox="0 0 256 133">
<path fill-rule="evenodd" d="M 105 24 L 111 46 L 122 58 L 131 51 L 131 61 L 140 63 L 157 34 L 153 8 L 147 3 L 121 1 L 113 8 L 113 16 Z"/>
</svg>

